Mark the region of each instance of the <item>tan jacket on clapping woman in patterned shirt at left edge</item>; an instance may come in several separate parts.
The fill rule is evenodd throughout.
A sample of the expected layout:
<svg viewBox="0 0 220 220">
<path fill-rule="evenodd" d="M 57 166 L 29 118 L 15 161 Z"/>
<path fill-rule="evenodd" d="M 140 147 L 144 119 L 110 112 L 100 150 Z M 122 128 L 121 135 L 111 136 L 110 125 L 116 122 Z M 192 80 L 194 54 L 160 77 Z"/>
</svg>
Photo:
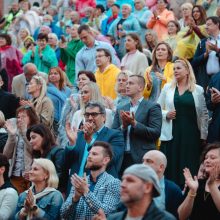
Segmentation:
<svg viewBox="0 0 220 220">
<path fill-rule="evenodd" d="M 13 123 L 16 126 L 16 119 L 13 119 Z M 17 150 L 17 144 L 18 144 L 18 140 L 19 138 L 23 138 L 24 140 L 24 171 L 22 172 L 22 174 L 24 172 L 27 172 L 31 169 L 31 164 L 33 161 L 33 157 L 32 157 L 32 147 L 26 137 L 26 132 L 24 133 L 19 133 L 17 132 L 15 135 L 10 135 L 8 134 L 8 139 L 7 142 L 5 144 L 4 150 L 3 150 L 3 154 L 9 159 L 10 161 L 10 168 L 9 168 L 9 177 L 11 177 L 12 175 L 12 171 L 15 165 L 15 160 L 16 160 L 16 150 Z"/>
</svg>

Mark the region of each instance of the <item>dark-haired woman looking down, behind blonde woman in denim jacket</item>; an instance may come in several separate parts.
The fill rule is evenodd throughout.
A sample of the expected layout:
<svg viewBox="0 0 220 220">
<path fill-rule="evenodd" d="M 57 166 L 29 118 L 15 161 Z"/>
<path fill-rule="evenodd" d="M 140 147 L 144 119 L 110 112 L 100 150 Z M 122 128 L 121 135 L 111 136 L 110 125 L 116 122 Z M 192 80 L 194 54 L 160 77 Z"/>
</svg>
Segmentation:
<svg viewBox="0 0 220 220">
<path fill-rule="evenodd" d="M 46 158 L 53 162 L 59 177 L 59 190 L 65 192 L 64 150 L 56 146 L 50 129 L 44 124 L 33 125 L 27 130 L 26 136 L 34 151 L 34 157 Z"/>
</svg>

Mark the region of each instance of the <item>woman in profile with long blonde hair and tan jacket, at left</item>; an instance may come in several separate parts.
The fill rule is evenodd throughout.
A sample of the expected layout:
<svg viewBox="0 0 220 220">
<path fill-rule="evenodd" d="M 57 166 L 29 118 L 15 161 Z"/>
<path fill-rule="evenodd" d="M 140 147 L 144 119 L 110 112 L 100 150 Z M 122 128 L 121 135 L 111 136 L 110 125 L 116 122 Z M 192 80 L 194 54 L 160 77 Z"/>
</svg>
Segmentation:
<svg viewBox="0 0 220 220">
<path fill-rule="evenodd" d="M 30 101 L 21 100 L 21 105 L 31 105 L 37 112 L 40 122 L 48 127 L 53 125 L 54 107 L 53 103 L 46 96 L 47 85 L 41 76 L 33 76 L 29 85 L 28 93 L 32 96 Z"/>
</svg>

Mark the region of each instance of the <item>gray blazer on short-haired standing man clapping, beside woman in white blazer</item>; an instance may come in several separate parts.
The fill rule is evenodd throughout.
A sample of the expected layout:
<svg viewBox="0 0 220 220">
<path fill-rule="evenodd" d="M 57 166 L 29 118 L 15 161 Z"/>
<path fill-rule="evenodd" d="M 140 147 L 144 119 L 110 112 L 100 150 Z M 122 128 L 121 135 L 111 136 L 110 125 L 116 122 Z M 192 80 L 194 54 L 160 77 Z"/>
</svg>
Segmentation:
<svg viewBox="0 0 220 220">
<path fill-rule="evenodd" d="M 122 129 L 120 111 L 130 111 L 130 103 L 116 110 L 112 128 L 120 129 L 126 140 L 127 129 Z M 135 113 L 137 124 L 130 129 L 131 156 L 135 163 L 141 163 L 144 154 L 156 149 L 156 141 L 160 137 L 162 112 L 160 105 L 143 99 Z"/>
</svg>

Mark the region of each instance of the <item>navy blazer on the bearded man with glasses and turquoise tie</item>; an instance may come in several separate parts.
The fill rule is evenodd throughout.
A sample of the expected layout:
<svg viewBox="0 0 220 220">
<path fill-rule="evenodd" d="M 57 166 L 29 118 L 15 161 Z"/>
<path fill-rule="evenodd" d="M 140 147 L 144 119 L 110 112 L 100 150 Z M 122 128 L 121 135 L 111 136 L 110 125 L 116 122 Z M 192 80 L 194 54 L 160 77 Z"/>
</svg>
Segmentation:
<svg viewBox="0 0 220 220">
<path fill-rule="evenodd" d="M 96 138 L 96 141 L 105 141 L 111 145 L 114 155 L 106 171 L 112 176 L 118 178 L 118 173 L 121 169 L 125 147 L 122 132 L 104 127 Z M 86 141 L 84 138 L 84 133 L 82 131 L 79 131 L 75 147 L 68 146 L 65 148 L 65 169 L 70 169 L 70 176 L 74 173 L 79 172 L 85 146 Z M 68 194 L 70 188 L 71 184 L 69 180 Z"/>
</svg>

